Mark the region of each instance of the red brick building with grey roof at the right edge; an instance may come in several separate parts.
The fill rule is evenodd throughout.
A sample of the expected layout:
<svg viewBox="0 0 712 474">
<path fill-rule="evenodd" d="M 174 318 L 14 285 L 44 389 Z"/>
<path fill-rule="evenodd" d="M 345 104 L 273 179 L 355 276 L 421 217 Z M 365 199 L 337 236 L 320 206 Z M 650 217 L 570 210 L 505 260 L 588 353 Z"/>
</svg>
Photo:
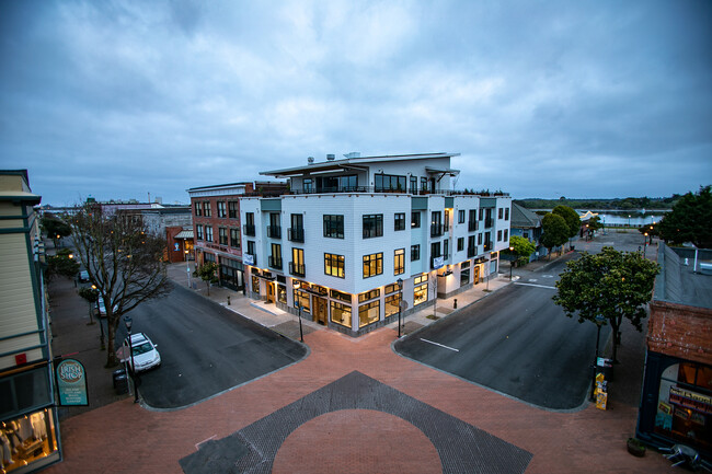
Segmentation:
<svg viewBox="0 0 712 474">
<path fill-rule="evenodd" d="M 712 459 L 712 251 L 662 245 L 638 437 Z"/>
</svg>

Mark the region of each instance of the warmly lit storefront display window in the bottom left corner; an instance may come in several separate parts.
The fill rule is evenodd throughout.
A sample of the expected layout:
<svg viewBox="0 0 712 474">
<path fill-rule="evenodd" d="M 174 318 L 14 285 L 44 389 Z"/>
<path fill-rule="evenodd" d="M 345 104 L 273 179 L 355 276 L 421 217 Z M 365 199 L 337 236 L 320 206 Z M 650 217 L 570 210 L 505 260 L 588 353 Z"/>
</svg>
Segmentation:
<svg viewBox="0 0 712 474">
<path fill-rule="evenodd" d="M 57 431 L 51 408 L 0 424 L 0 472 L 37 467 L 59 459 Z M 32 469 L 32 467 L 31 467 Z M 23 472 L 26 472 L 26 467 Z"/>
</svg>

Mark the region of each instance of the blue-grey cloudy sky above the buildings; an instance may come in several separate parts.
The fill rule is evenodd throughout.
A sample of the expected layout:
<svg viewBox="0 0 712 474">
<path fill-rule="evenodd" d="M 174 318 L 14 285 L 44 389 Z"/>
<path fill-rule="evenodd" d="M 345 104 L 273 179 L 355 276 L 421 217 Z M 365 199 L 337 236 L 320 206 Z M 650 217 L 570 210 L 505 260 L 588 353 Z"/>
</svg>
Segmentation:
<svg viewBox="0 0 712 474">
<path fill-rule="evenodd" d="M 0 1 L 0 167 L 43 203 L 459 152 L 458 188 L 712 182 L 712 2 Z"/>
</svg>

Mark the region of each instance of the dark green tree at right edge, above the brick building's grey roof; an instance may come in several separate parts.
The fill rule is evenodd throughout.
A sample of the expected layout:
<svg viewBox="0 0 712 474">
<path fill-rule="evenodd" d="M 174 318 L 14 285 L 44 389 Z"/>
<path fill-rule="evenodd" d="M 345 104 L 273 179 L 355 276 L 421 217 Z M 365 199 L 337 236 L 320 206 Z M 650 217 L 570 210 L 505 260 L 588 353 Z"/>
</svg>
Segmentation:
<svg viewBox="0 0 712 474">
<path fill-rule="evenodd" d="M 671 244 L 692 242 L 698 248 L 712 248 L 712 186 L 682 196 L 661 221 L 659 234 Z"/>
</svg>

